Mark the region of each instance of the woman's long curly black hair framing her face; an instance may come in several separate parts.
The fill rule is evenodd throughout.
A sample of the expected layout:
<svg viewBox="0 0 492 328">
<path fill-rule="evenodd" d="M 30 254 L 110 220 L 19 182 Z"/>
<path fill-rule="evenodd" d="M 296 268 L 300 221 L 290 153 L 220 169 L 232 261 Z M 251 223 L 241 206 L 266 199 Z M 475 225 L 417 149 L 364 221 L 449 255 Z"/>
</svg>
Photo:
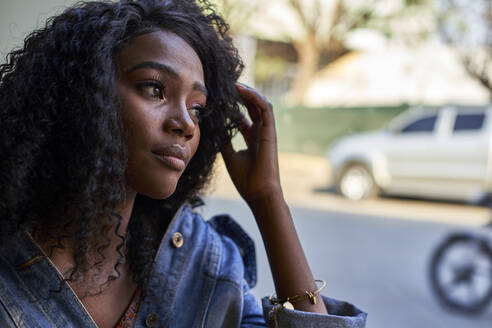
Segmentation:
<svg viewBox="0 0 492 328">
<path fill-rule="evenodd" d="M 138 195 L 129 233 L 119 235 L 133 279 L 144 285 L 169 221 L 199 195 L 237 128 L 234 82 L 243 64 L 228 25 L 207 0 L 82 2 L 50 18 L 0 65 L 0 244 L 24 230 L 56 247 L 68 238 L 75 261 L 68 281 L 89 269 L 89 251 L 107 248 L 121 220 L 114 208 L 125 199 L 127 149 L 113 58 L 157 30 L 175 33 L 198 54 L 209 110 L 175 193 L 166 200 Z"/>
</svg>

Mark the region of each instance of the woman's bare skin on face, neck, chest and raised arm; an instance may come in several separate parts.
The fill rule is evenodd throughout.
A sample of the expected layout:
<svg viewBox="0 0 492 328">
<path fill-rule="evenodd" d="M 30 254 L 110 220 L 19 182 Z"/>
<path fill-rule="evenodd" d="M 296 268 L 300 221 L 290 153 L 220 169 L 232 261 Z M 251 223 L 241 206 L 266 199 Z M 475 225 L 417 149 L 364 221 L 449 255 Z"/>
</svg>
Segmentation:
<svg viewBox="0 0 492 328">
<path fill-rule="evenodd" d="M 123 219 L 119 232 L 125 234 L 137 193 L 165 199 L 175 191 L 199 145 L 198 115 L 200 110 L 207 110 L 207 90 L 197 54 L 170 32 L 136 37 L 116 55 L 115 65 L 129 151 L 127 199 L 115 209 Z M 228 172 L 258 223 L 277 295 L 286 297 L 315 290 L 280 186 L 272 106 L 255 90 L 242 84 L 236 87 L 251 121 L 244 117 L 240 127 L 248 148 L 236 152 L 228 144 L 222 151 Z M 180 149 L 181 159 L 162 159 L 156 154 L 158 149 L 169 146 Z M 113 264 L 119 259 L 116 247 L 120 240 L 110 238 L 113 240 L 104 253 L 106 260 L 100 271 L 94 272 L 90 279 L 81 279 L 86 281 L 84 284 L 71 285 L 101 328 L 116 325 L 137 287 L 126 263 L 119 266 L 120 278 L 100 295 L 85 296 L 92 286 L 105 282 L 108 274 L 115 274 Z M 67 246 L 51 256 L 62 273 L 69 272 L 73 265 Z M 94 262 L 97 260 L 96 257 Z M 295 307 L 326 313 L 320 297 L 317 305 L 303 301 Z"/>
</svg>

